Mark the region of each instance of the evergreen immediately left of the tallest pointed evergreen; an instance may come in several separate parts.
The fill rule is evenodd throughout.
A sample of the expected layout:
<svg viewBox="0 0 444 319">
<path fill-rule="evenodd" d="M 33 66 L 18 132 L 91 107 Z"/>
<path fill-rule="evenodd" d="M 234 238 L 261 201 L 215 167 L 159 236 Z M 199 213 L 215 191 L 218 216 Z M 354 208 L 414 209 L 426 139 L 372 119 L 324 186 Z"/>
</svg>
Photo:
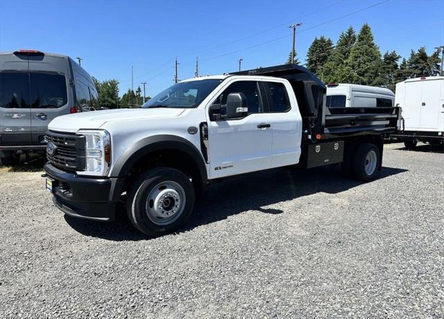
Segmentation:
<svg viewBox="0 0 444 319">
<path fill-rule="evenodd" d="M 345 66 L 344 62 L 348 59 L 355 42 L 356 33 L 351 26 L 339 35 L 338 42 L 336 42 L 332 53 L 328 54 L 327 62 L 323 68 L 324 82 L 348 82 L 350 69 Z"/>
</svg>

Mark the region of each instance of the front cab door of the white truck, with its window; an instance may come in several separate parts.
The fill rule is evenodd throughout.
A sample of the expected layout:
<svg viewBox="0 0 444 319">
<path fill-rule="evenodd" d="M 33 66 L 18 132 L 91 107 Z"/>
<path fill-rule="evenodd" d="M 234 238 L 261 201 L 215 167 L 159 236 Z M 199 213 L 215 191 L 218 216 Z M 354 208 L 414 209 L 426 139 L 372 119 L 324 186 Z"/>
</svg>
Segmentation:
<svg viewBox="0 0 444 319">
<path fill-rule="evenodd" d="M 264 113 L 259 82 L 232 80 L 212 104 L 226 104 L 229 93 L 244 93 L 248 114 L 242 118 L 208 121 L 210 179 L 265 170 L 271 167 L 272 133 Z"/>
</svg>

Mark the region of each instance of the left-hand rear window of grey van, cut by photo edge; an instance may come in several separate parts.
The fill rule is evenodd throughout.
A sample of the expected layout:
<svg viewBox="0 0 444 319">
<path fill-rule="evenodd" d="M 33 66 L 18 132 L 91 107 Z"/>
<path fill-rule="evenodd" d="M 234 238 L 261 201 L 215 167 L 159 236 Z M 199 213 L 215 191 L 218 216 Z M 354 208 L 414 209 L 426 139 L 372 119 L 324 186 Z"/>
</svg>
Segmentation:
<svg viewBox="0 0 444 319">
<path fill-rule="evenodd" d="M 28 72 L 0 72 L 0 107 L 29 108 Z"/>
</svg>

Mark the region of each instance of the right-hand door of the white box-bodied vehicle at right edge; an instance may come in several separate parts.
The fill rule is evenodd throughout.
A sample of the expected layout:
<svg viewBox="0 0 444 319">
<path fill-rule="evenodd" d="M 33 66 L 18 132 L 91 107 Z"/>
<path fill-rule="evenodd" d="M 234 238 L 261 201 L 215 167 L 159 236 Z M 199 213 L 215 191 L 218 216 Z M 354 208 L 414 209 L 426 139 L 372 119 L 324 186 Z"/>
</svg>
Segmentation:
<svg viewBox="0 0 444 319">
<path fill-rule="evenodd" d="M 441 80 L 425 80 L 422 82 L 422 101 L 420 104 L 420 127 L 425 130 L 438 131 L 441 113 Z"/>
</svg>

